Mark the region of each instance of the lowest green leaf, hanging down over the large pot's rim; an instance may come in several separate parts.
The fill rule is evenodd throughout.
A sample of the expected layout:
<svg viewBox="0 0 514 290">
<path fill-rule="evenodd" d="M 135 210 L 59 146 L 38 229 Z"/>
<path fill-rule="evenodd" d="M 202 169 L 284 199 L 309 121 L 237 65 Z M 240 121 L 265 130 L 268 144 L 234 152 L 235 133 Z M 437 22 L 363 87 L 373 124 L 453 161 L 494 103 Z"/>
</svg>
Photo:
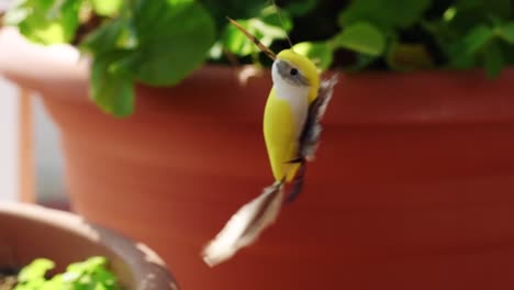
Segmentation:
<svg viewBox="0 0 514 290">
<path fill-rule="evenodd" d="M 91 67 L 91 98 L 104 111 L 115 116 L 134 112 L 134 88 L 130 78 L 115 72 L 115 64 L 125 53 L 97 56 Z M 70 266 L 70 271 L 74 266 Z"/>
</svg>

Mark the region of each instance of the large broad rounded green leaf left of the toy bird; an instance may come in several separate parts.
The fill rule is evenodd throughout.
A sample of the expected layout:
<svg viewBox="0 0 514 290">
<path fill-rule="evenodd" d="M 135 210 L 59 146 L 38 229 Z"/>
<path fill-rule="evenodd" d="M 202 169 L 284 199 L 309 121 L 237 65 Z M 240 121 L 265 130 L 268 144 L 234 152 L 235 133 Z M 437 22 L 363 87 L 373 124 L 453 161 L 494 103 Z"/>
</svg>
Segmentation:
<svg viewBox="0 0 514 290">
<path fill-rule="evenodd" d="M 118 68 L 145 83 L 178 83 L 202 65 L 214 44 L 213 20 L 195 1 L 139 1 L 132 13 L 138 46 Z"/>
</svg>

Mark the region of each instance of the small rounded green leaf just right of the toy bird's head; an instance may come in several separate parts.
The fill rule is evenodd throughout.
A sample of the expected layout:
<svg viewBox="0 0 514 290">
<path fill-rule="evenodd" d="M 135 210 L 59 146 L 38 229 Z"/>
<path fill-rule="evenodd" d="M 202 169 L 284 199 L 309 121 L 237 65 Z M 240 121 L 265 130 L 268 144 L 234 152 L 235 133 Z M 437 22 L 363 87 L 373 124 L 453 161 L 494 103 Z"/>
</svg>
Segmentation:
<svg viewBox="0 0 514 290">
<path fill-rule="evenodd" d="M 336 35 L 334 44 L 337 47 L 377 56 L 386 48 L 386 35 L 370 23 L 358 22 Z"/>
</svg>

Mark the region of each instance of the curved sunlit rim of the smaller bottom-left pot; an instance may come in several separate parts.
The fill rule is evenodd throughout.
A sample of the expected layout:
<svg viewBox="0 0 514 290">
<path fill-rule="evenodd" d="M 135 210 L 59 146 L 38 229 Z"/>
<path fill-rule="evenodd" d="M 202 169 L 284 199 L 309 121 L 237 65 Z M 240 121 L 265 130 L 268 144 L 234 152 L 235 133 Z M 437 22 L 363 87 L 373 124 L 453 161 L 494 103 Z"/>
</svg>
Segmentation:
<svg viewBox="0 0 514 290">
<path fill-rule="evenodd" d="M 79 215 L 18 202 L 0 203 L 0 216 L 2 215 L 30 223 L 48 225 L 79 238 L 105 246 L 127 265 L 133 279 L 138 285 L 138 290 L 178 289 L 166 264 L 149 247 L 133 242 L 112 230 L 89 223 Z M 147 277 L 153 277 L 152 283 L 144 282 Z"/>
</svg>

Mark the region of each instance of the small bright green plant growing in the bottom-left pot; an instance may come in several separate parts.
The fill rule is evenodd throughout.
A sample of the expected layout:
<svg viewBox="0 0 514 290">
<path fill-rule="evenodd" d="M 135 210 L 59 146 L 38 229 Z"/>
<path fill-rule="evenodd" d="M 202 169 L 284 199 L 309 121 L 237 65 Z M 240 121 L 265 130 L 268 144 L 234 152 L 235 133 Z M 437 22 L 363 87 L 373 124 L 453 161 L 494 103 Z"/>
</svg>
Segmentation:
<svg viewBox="0 0 514 290">
<path fill-rule="evenodd" d="M 107 259 L 91 257 L 75 263 L 63 274 L 47 278 L 47 272 L 55 267 L 48 259 L 35 259 L 18 275 L 14 290 L 118 290 L 116 277 L 108 270 Z"/>
</svg>

